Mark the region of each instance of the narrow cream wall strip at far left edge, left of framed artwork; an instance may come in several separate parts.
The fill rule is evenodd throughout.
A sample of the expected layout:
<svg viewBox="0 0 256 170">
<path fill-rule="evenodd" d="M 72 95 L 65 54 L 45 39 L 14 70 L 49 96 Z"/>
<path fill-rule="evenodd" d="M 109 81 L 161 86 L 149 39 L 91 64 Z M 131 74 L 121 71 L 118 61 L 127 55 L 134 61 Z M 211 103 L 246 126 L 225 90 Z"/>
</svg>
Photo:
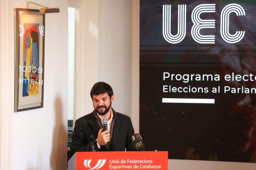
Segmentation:
<svg viewBox="0 0 256 170">
<path fill-rule="evenodd" d="M 14 33 L 11 0 L 0 0 L 0 170 L 11 169 Z"/>
</svg>

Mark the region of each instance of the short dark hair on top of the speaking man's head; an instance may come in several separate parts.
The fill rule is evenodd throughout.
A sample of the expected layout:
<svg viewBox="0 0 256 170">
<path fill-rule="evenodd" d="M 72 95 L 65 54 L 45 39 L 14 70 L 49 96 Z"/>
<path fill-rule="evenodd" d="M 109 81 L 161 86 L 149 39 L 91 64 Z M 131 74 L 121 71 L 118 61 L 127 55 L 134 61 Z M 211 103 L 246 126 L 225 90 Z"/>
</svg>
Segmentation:
<svg viewBox="0 0 256 170">
<path fill-rule="evenodd" d="M 104 94 L 107 93 L 109 98 L 113 96 L 113 89 L 112 87 L 105 83 L 105 82 L 97 82 L 93 85 L 91 88 L 91 99 L 93 99 L 93 95 L 99 95 L 99 94 Z"/>
</svg>

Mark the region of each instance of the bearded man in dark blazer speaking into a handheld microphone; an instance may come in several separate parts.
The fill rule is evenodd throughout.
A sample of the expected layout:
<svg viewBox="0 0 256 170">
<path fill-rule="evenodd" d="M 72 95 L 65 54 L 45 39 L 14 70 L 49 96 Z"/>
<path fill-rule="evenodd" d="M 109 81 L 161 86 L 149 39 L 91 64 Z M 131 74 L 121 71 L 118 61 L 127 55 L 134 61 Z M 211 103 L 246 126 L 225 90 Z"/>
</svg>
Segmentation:
<svg viewBox="0 0 256 170">
<path fill-rule="evenodd" d="M 72 135 L 70 155 L 76 152 L 92 151 L 91 135 L 94 135 L 96 151 L 135 151 L 131 140 L 134 134 L 130 117 L 115 112 L 111 104 L 113 90 L 104 82 L 95 83 L 91 89 L 94 110 L 76 120 Z M 103 131 L 102 120 L 108 120 L 108 130 Z M 108 142 L 108 149 L 104 145 Z M 71 157 L 70 156 L 70 157 Z"/>
</svg>

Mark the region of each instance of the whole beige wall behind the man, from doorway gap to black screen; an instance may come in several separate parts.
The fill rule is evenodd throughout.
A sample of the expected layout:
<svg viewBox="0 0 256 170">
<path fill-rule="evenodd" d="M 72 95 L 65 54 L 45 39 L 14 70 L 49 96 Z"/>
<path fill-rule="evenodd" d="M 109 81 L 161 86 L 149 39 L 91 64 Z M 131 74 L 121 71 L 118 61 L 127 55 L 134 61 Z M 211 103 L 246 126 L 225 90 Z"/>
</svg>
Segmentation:
<svg viewBox="0 0 256 170">
<path fill-rule="evenodd" d="M 113 108 L 130 116 L 135 132 L 139 132 L 139 1 L 76 2 L 84 11 L 80 44 L 85 45 L 81 47 L 83 55 L 76 59 L 79 79 L 74 117 L 91 113 L 91 87 L 97 81 L 105 81 L 113 87 Z"/>
</svg>

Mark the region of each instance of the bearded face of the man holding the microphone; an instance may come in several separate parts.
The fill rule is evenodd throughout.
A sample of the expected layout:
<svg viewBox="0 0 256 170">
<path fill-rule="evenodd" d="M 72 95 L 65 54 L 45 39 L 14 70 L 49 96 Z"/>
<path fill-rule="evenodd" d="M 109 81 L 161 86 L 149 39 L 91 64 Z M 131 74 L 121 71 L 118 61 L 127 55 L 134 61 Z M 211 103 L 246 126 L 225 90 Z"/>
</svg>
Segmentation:
<svg viewBox="0 0 256 170">
<path fill-rule="evenodd" d="M 107 93 L 93 95 L 93 107 L 99 113 L 99 115 L 105 115 L 111 108 L 111 104 L 114 100 L 114 95 L 109 98 Z"/>
</svg>

